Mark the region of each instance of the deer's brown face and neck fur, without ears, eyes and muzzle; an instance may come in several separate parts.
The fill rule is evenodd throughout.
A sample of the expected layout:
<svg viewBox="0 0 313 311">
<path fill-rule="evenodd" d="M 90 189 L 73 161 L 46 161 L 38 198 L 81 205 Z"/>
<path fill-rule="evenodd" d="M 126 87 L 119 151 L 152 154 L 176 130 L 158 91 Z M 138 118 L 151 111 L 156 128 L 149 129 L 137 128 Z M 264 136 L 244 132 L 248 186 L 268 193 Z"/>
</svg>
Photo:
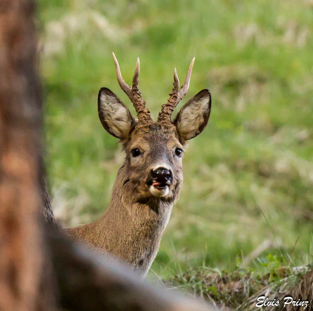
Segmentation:
<svg viewBox="0 0 313 311">
<path fill-rule="evenodd" d="M 131 163 L 130 146 L 134 143 L 146 150 L 149 161 L 144 167 Z M 174 126 L 154 124 L 136 128 L 126 143 L 127 157 L 117 173 L 106 213 L 94 223 L 66 229 L 67 233 L 130 263 L 136 270 L 148 271 L 182 187 L 181 163 L 172 160 L 175 143 L 180 144 Z M 152 196 L 142 178 L 160 156 L 173 165 L 174 183 L 166 198 Z"/>
</svg>

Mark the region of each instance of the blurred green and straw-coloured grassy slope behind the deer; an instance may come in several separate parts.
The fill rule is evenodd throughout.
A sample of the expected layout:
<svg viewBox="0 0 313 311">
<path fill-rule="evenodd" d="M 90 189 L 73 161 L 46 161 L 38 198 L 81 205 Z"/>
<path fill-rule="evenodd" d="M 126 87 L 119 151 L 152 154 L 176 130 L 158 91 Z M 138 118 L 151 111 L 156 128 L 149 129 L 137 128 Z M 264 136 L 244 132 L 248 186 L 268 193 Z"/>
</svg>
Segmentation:
<svg viewBox="0 0 313 311">
<path fill-rule="evenodd" d="M 40 0 L 46 163 L 64 226 L 98 219 L 124 159 L 97 113 L 101 87 L 120 89 L 112 51 L 131 83 L 136 57 L 152 117 L 183 81 L 182 104 L 212 94 L 204 132 L 184 155 L 184 186 L 150 277 L 204 265 L 233 269 L 279 253 L 313 253 L 313 2 Z M 264 258 L 265 258 L 264 257 Z M 251 265 L 260 262 L 254 260 Z"/>
</svg>

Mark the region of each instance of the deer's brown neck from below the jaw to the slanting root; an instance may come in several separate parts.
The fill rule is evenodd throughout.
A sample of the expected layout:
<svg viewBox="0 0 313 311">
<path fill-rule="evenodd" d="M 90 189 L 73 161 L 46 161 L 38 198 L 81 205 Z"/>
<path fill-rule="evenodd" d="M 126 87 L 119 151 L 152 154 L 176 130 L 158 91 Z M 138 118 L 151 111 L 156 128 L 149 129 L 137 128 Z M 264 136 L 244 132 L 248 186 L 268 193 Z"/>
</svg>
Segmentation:
<svg viewBox="0 0 313 311">
<path fill-rule="evenodd" d="M 112 199 L 106 213 L 89 228 L 97 236 L 94 245 L 129 263 L 145 274 L 156 257 L 162 233 L 168 223 L 173 201 L 142 199 L 136 182 L 117 174 Z"/>
</svg>

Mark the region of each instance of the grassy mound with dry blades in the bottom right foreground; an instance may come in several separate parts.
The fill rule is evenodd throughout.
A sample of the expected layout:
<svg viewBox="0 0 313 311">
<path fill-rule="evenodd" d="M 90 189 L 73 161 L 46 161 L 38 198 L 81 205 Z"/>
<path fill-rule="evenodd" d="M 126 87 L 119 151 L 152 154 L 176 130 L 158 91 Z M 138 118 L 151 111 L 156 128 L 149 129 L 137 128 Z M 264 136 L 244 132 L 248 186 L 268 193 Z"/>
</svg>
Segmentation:
<svg viewBox="0 0 313 311">
<path fill-rule="evenodd" d="M 306 309 L 312 308 L 312 278 L 311 266 L 291 268 L 282 266 L 277 256 L 269 255 L 261 261 L 263 271 L 260 273 L 251 268 L 236 267 L 231 273 L 225 270 L 208 267 L 197 267 L 175 274 L 168 285 L 182 290 L 192 291 L 195 297 L 220 306 L 223 309 L 258 310 L 257 298 L 268 296 L 269 300 L 280 302 L 284 309 L 284 298 L 291 296 L 295 301 L 308 301 Z M 259 269 L 258 269 L 259 270 Z M 299 310 L 299 305 L 289 310 Z M 271 310 L 265 306 L 263 310 Z"/>
</svg>

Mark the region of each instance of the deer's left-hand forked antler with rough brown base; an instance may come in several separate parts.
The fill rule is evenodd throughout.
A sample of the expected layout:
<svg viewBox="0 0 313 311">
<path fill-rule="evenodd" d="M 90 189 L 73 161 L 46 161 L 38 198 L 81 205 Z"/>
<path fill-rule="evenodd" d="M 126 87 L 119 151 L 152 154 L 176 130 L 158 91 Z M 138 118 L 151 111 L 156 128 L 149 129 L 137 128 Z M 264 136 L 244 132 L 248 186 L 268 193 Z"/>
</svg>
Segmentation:
<svg viewBox="0 0 313 311">
<path fill-rule="evenodd" d="M 120 66 L 117 62 L 117 59 L 116 59 L 114 53 L 112 53 L 112 54 L 113 54 L 114 63 L 115 63 L 115 71 L 116 71 L 117 81 L 120 84 L 121 89 L 126 93 L 128 98 L 133 103 L 133 105 L 136 109 L 139 124 L 145 125 L 145 124 L 152 123 L 153 121 L 152 121 L 151 116 L 150 116 L 150 111 L 149 111 L 149 109 L 146 108 L 146 102 L 142 99 L 141 93 L 138 89 L 139 58 L 137 57 L 137 63 L 136 63 L 136 69 L 135 69 L 134 77 L 133 77 L 132 87 L 129 87 L 127 85 L 127 83 L 124 81 L 124 79 L 122 78 Z"/>
</svg>

